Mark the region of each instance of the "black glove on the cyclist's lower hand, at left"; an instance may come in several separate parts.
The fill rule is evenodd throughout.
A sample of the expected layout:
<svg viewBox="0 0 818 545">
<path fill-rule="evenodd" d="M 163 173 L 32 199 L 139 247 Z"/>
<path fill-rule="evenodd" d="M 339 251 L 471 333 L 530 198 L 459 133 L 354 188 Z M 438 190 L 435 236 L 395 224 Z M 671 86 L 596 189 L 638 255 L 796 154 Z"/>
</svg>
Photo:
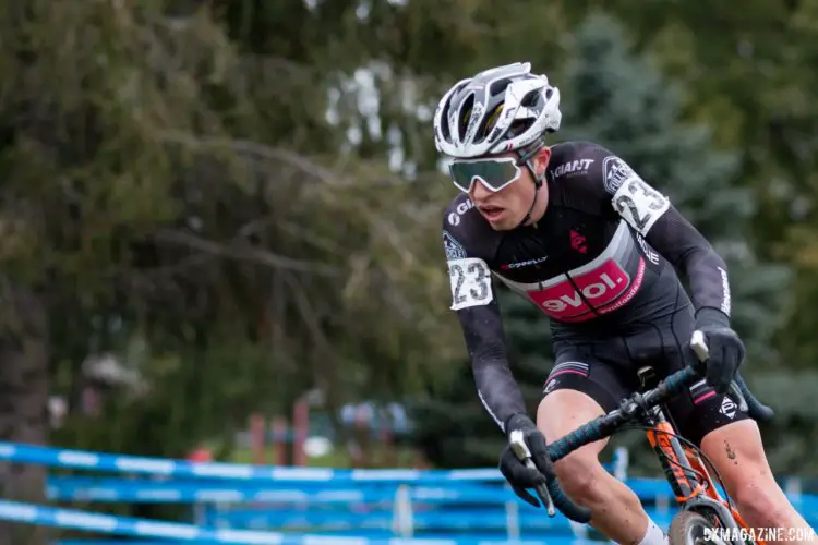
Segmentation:
<svg viewBox="0 0 818 545">
<path fill-rule="evenodd" d="M 531 452 L 531 460 L 540 471 L 526 468 L 517 458 L 512 447 L 506 445 L 500 457 L 500 472 L 512 485 L 514 493 L 524 501 L 534 507 L 540 507 L 539 499 L 526 491 L 544 484 L 546 480 L 554 479 L 554 467 L 551 463 L 549 451 L 546 449 L 545 436 L 537 429 L 537 425 L 526 414 L 515 414 L 506 423 L 506 434 L 510 438 L 512 432 L 519 429 L 522 432 L 522 438 Z"/>
</svg>

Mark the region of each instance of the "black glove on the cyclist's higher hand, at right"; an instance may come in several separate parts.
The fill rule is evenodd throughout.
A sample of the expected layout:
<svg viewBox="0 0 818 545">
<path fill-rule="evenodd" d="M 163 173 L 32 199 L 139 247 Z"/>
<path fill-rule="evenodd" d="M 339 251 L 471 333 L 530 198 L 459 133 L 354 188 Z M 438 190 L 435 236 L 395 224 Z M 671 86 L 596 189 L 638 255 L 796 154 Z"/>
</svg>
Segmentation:
<svg viewBox="0 0 818 545">
<path fill-rule="evenodd" d="M 744 343 L 730 328 L 730 318 L 715 308 L 701 308 L 696 313 L 696 329 L 705 334 L 709 351 L 707 384 L 717 393 L 726 393 L 744 361 Z"/>
</svg>

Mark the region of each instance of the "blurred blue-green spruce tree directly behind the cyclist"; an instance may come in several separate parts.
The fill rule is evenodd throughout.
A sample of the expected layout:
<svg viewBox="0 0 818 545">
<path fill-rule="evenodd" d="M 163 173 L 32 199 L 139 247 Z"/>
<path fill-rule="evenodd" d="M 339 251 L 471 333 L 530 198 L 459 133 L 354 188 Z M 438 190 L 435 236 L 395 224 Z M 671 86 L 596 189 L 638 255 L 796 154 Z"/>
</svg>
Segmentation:
<svg viewBox="0 0 818 545">
<path fill-rule="evenodd" d="M 781 310 L 777 288 L 784 284 L 786 274 L 758 263 L 745 242 L 754 202 L 750 193 L 734 184 L 734 156 L 713 149 L 708 128 L 679 122 L 679 89 L 647 58 L 629 50 L 614 20 L 600 14 L 588 17 L 566 49 L 572 59 L 564 74 L 552 77 L 563 96 L 560 140 L 590 140 L 605 146 L 670 196 L 727 262 L 733 325 L 747 343 L 748 361 L 756 365 L 773 360 L 767 342 Z M 533 415 L 553 365 L 549 326 L 529 302 L 502 291 L 512 368 Z M 417 404 L 419 437 L 435 463 L 493 464 L 504 438 L 474 393 L 467 363 L 464 370 L 448 392 L 434 398 L 436 392 L 431 392 L 432 399 Z M 647 452 L 642 434 L 624 434 L 612 441 L 621 444 L 641 445 L 635 461 L 658 469 L 654 459 L 641 457 Z"/>
</svg>

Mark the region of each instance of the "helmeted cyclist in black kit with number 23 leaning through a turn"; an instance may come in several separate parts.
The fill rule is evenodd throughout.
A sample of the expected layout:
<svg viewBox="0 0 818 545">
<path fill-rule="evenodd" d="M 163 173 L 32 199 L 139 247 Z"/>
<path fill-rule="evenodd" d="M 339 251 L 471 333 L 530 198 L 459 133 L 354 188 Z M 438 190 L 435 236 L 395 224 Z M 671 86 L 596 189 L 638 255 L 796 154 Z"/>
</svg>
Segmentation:
<svg viewBox="0 0 818 545">
<path fill-rule="evenodd" d="M 755 421 L 725 396 L 745 348 L 730 326 L 724 262 L 614 153 L 591 142 L 546 145 L 561 117 L 560 90 L 530 63 L 458 82 L 434 116 L 437 150 L 452 158 L 460 190 L 443 219 L 452 310 L 480 400 L 503 432 L 524 432 L 539 469 L 506 447 L 503 475 L 536 507 L 528 488 L 556 477 L 609 538 L 666 543 L 637 496 L 601 465 L 606 441 L 552 464 L 545 438 L 616 409 L 638 386 L 640 366 L 660 378 L 682 368 L 698 329 L 711 354 L 706 379 L 670 403 L 672 417 L 713 461 L 748 525 L 809 529 L 775 483 Z M 537 424 L 508 367 L 492 275 L 550 318 L 555 365 Z"/>
</svg>

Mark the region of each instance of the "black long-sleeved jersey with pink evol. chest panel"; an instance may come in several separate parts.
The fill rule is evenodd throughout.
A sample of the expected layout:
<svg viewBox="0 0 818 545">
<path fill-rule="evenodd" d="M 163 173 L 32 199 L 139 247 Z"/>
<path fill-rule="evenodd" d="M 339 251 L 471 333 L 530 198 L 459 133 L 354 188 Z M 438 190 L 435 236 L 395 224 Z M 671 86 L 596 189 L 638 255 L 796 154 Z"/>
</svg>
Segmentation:
<svg viewBox="0 0 818 545">
<path fill-rule="evenodd" d="M 627 336 L 690 304 L 730 316 L 724 262 L 666 196 L 600 145 L 551 150 L 549 204 L 537 223 L 494 231 L 462 193 L 443 220 L 452 310 L 480 399 L 501 427 L 525 405 L 508 370 L 492 276 L 549 316 L 555 341 Z M 689 298 L 676 270 L 689 281 Z"/>
</svg>

